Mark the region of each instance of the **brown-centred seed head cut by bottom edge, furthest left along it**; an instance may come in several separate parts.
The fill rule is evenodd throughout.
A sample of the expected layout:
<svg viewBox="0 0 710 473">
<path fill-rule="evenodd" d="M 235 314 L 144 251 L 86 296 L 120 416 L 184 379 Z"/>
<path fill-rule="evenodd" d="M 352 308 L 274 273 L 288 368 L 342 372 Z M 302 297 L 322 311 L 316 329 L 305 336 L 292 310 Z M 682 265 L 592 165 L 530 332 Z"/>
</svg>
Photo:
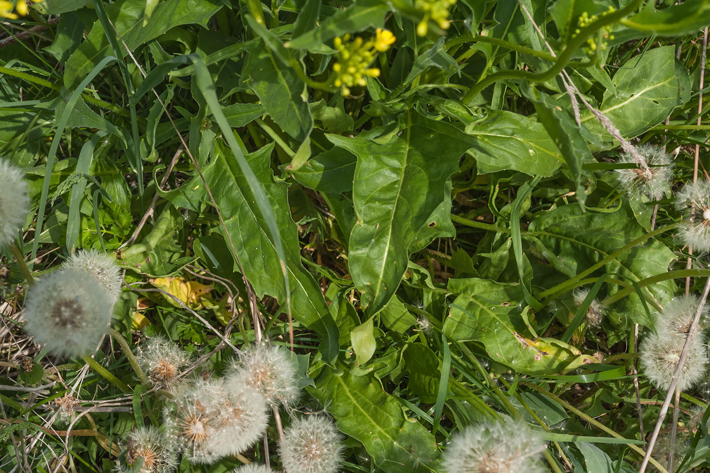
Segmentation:
<svg viewBox="0 0 710 473">
<path fill-rule="evenodd" d="M 138 427 L 121 444 L 116 460 L 118 473 L 173 473 L 178 454 L 170 448 L 165 435 L 152 426 Z M 136 468 L 141 465 L 140 469 Z"/>
</svg>

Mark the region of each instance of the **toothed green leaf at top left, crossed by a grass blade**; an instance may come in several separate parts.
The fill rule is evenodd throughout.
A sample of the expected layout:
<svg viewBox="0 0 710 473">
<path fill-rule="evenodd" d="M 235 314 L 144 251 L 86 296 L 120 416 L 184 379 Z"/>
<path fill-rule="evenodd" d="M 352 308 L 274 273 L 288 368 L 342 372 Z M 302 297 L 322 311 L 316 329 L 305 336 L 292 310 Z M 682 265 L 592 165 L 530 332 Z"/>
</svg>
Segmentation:
<svg viewBox="0 0 710 473">
<path fill-rule="evenodd" d="M 107 16 L 116 32 L 133 51 L 138 46 L 158 38 L 175 26 L 197 23 L 207 26 L 207 20 L 222 8 L 218 0 L 165 0 L 155 8 L 151 21 L 143 27 L 146 0 L 119 0 L 107 9 Z M 126 57 L 126 47 L 121 43 L 121 54 Z M 111 52 L 111 45 L 98 21 L 89 31 L 84 43 L 66 62 L 64 85 L 74 89 L 78 82 Z"/>
</svg>

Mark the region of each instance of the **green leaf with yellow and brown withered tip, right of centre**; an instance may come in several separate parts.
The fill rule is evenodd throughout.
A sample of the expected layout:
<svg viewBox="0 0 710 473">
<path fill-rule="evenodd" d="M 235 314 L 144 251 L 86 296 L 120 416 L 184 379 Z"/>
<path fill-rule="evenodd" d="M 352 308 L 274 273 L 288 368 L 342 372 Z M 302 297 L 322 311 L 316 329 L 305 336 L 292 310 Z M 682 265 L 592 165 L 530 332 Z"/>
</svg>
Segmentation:
<svg viewBox="0 0 710 473">
<path fill-rule="evenodd" d="M 491 359 L 519 373 L 554 374 L 596 363 L 559 340 L 528 336 L 520 284 L 466 278 L 449 279 L 448 288 L 460 293 L 444 322 L 449 339 L 477 340 Z"/>
</svg>

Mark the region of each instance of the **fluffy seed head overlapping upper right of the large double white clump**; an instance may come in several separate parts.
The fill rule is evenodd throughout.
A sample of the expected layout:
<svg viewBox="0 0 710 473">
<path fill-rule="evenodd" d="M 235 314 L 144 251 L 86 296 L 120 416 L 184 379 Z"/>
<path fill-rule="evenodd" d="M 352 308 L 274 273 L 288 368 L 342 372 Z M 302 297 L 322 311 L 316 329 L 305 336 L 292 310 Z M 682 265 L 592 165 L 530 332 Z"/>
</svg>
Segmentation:
<svg viewBox="0 0 710 473">
<path fill-rule="evenodd" d="M 274 405 L 292 407 L 300 396 L 290 352 L 276 346 L 260 343 L 246 349 L 234 360 L 226 377 L 229 384 L 253 386 Z"/>
</svg>

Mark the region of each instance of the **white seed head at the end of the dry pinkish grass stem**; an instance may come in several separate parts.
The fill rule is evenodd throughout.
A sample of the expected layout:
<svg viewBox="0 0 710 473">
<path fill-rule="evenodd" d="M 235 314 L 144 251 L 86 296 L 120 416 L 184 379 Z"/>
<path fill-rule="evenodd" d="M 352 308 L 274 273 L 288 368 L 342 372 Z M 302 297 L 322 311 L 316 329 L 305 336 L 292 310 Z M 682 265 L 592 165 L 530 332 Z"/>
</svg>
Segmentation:
<svg viewBox="0 0 710 473">
<path fill-rule="evenodd" d="M 670 194 L 670 180 L 673 177 L 671 157 L 660 146 L 643 144 L 636 151 L 645 158 L 647 169 L 640 167 L 631 153 L 623 153 L 617 163 L 635 164 L 638 168 L 616 169 L 616 178 L 628 195 L 638 198 L 645 195 L 650 200 L 659 200 Z"/>
</svg>

